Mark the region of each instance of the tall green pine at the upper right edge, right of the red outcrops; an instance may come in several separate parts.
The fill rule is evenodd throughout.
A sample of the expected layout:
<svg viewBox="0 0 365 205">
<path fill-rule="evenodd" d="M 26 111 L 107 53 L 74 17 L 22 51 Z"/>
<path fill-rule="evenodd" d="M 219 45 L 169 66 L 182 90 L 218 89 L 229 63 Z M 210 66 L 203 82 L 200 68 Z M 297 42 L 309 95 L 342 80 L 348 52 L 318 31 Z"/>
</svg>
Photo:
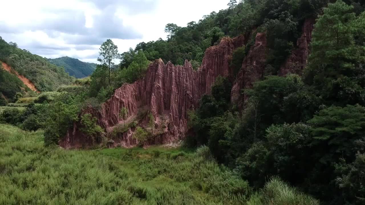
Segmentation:
<svg viewBox="0 0 365 205">
<path fill-rule="evenodd" d="M 365 36 L 365 12 L 356 16 L 352 5 L 341 0 L 330 3 L 319 16 L 312 36 L 307 82 L 331 101 L 342 100 L 338 99 L 338 93 L 348 95 L 351 90 L 359 90 L 357 83 L 351 81 L 360 75 L 360 65 L 365 62 L 365 46 L 363 41 L 357 41 Z"/>
</svg>

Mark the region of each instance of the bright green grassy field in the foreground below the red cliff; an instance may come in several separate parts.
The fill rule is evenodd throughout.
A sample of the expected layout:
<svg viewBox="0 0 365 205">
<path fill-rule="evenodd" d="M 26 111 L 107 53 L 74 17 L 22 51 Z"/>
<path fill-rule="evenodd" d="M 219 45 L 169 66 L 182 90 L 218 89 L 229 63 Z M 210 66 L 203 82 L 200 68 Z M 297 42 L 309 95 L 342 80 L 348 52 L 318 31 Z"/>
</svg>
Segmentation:
<svg viewBox="0 0 365 205">
<path fill-rule="evenodd" d="M 271 190 L 280 181 L 253 192 L 207 151 L 64 150 L 43 146 L 43 131 L 0 124 L 0 204 L 318 204 L 284 183 L 282 193 Z"/>
</svg>

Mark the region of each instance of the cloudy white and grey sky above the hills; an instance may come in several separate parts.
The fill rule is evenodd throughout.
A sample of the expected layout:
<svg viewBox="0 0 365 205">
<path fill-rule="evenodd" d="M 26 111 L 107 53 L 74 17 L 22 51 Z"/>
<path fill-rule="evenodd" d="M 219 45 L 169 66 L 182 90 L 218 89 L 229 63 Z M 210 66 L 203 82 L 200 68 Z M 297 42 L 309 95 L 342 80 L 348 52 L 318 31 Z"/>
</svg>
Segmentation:
<svg viewBox="0 0 365 205">
<path fill-rule="evenodd" d="M 0 36 L 46 58 L 96 63 L 107 39 L 119 53 L 166 39 L 165 25 L 186 26 L 229 0 L 11 0 L 1 3 Z"/>
</svg>

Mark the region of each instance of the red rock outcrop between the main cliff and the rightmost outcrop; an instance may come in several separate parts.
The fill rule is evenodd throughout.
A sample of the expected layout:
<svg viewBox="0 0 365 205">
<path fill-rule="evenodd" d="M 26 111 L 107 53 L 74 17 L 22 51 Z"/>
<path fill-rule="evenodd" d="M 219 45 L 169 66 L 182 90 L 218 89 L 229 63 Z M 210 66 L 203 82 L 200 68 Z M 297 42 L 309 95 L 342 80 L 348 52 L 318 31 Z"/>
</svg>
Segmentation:
<svg viewBox="0 0 365 205">
<path fill-rule="evenodd" d="M 266 63 L 266 35 L 258 33 L 255 38 L 255 45 L 242 62 L 242 68 L 231 90 L 231 102 L 242 107 L 247 98 L 242 94 L 242 89 L 251 88 L 253 83 L 260 80 L 264 75 Z"/>
</svg>

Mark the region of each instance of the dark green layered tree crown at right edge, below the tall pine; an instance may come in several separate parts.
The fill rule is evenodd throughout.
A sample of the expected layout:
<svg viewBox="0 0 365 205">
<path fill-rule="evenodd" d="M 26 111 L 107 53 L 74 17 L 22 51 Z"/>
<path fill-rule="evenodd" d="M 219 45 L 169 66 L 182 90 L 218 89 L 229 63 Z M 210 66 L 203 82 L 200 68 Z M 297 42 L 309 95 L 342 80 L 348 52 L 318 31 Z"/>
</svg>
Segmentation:
<svg viewBox="0 0 365 205">
<path fill-rule="evenodd" d="M 319 111 L 308 123 L 313 126 L 312 144 L 326 151 L 323 155 L 316 153 L 322 163 L 337 162 L 340 157 L 353 159 L 354 142 L 365 134 L 365 109 L 360 105 L 331 106 Z"/>
</svg>

